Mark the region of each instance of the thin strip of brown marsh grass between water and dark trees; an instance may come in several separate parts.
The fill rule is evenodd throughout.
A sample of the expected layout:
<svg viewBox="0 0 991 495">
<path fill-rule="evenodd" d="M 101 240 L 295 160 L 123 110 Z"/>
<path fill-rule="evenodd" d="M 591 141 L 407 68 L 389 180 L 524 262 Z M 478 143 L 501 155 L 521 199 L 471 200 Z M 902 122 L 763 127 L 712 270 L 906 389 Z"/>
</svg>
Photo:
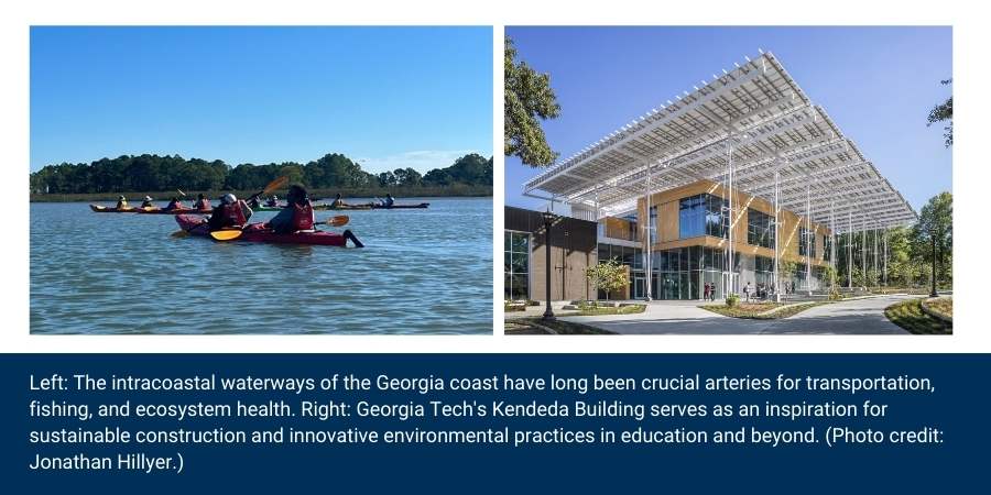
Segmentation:
<svg viewBox="0 0 991 495">
<path fill-rule="evenodd" d="M 91 194 L 32 194 L 31 202 L 85 202 L 85 201 L 117 201 L 118 196 L 123 195 L 130 202 L 141 202 L 145 196 L 151 196 L 156 201 L 167 201 L 173 196 L 177 196 L 183 201 L 192 202 L 197 195 L 203 193 L 207 198 L 216 199 L 227 193 L 233 193 L 238 197 L 247 198 L 257 190 L 184 190 L 185 197 L 179 196 L 178 191 L 131 191 L 131 193 L 91 193 Z M 359 188 L 359 189 L 311 189 L 309 195 L 322 199 L 334 199 L 335 195 L 340 194 L 345 199 L 348 198 L 375 198 L 384 197 L 391 194 L 393 197 L 401 198 L 440 198 L 440 197 L 492 197 L 492 186 L 465 186 L 455 185 L 450 187 L 411 187 L 411 188 Z M 280 197 L 285 196 L 285 191 L 275 193 Z"/>
</svg>

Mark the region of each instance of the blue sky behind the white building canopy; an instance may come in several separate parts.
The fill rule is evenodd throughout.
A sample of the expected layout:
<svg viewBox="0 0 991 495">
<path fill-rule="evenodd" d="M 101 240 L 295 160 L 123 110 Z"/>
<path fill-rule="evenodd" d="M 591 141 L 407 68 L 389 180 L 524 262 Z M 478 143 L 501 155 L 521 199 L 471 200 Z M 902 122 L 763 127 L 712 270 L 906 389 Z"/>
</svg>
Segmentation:
<svg viewBox="0 0 991 495">
<path fill-rule="evenodd" d="M 562 113 L 544 123 L 551 146 L 570 156 L 630 120 L 770 51 L 813 102 L 918 209 L 951 190 L 951 148 L 929 109 L 951 95 L 950 28 L 508 28 L 519 55 L 551 74 Z M 505 202 L 540 170 L 507 157 Z"/>
</svg>

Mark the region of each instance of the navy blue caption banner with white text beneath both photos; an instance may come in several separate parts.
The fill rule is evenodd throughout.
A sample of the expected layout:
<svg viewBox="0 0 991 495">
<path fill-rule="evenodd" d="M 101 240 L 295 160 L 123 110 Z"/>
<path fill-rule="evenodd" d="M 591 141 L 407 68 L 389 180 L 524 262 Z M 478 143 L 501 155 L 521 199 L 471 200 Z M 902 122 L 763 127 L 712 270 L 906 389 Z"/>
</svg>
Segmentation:
<svg viewBox="0 0 991 495">
<path fill-rule="evenodd" d="M 9 493 L 987 485 L 987 354 L 8 354 Z M 983 490 L 983 488 L 979 488 Z"/>
</svg>

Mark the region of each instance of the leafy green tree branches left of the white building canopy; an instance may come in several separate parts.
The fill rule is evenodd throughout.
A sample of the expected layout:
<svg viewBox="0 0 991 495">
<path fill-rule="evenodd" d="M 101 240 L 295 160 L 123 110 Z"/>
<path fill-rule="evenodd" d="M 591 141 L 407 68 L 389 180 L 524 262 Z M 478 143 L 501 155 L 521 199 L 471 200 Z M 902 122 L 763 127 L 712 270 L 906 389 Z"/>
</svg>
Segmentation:
<svg viewBox="0 0 991 495">
<path fill-rule="evenodd" d="M 560 114 L 557 97 L 551 88 L 551 76 L 540 74 L 525 62 L 516 62 L 513 41 L 505 38 L 503 58 L 503 153 L 519 156 L 534 167 L 549 166 L 557 160 L 551 150 L 538 119 L 554 119 Z"/>
</svg>

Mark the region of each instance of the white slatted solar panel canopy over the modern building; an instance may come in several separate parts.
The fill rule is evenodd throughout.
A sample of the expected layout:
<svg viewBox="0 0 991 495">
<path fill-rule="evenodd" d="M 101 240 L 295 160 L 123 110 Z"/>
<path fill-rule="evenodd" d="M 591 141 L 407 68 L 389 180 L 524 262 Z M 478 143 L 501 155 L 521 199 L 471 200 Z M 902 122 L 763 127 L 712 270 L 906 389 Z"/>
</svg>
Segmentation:
<svg viewBox="0 0 991 495">
<path fill-rule="evenodd" d="M 731 189 L 773 200 L 776 184 L 781 208 L 837 233 L 916 220 L 773 54 L 700 84 L 532 178 L 524 194 L 542 190 L 617 215 L 649 191 L 700 179 L 727 184 L 731 164 Z"/>
</svg>

